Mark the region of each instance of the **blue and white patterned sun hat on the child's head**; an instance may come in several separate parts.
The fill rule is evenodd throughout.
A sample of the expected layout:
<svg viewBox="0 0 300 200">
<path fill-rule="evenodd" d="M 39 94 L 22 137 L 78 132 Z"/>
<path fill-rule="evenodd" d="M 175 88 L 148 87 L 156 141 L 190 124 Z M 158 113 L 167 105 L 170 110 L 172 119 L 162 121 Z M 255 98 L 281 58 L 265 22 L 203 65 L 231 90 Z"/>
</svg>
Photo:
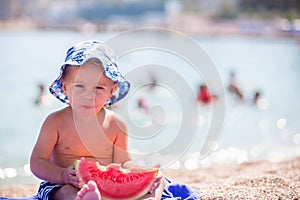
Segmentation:
<svg viewBox="0 0 300 200">
<path fill-rule="evenodd" d="M 80 42 L 68 49 L 65 62 L 60 68 L 60 75 L 49 87 L 50 93 L 63 103 L 69 104 L 69 99 L 64 93 L 61 82 L 65 67 L 66 65 L 81 66 L 92 58 L 96 58 L 102 63 L 105 76 L 118 83 L 114 94 L 104 106 L 111 106 L 123 99 L 129 92 L 130 84 L 119 72 L 117 58 L 113 51 L 98 41 Z"/>
</svg>

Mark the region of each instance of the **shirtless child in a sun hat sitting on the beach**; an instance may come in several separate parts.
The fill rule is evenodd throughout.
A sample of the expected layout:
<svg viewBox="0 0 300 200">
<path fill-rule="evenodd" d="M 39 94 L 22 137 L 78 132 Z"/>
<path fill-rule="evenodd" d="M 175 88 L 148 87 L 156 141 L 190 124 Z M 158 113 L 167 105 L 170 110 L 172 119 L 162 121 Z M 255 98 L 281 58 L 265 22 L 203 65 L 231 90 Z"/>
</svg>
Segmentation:
<svg viewBox="0 0 300 200">
<path fill-rule="evenodd" d="M 85 41 L 68 50 L 60 76 L 50 86 L 68 106 L 46 118 L 30 158 L 32 172 L 45 180 L 40 199 L 101 199 L 95 182 L 82 185 L 72 165 L 82 157 L 103 164 L 130 160 L 126 123 L 106 109 L 124 98 L 129 87 L 108 47 Z M 160 199 L 162 190 L 158 176 L 144 198 Z"/>
</svg>

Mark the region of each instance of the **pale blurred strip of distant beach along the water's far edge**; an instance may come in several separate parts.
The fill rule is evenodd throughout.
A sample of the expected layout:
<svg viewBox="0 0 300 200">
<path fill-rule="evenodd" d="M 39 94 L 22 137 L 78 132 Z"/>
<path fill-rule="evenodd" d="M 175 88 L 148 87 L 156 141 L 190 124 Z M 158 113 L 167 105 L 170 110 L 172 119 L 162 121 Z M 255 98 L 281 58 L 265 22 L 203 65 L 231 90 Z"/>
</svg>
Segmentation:
<svg viewBox="0 0 300 200">
<path fill-rule="evenodd" d="M 92 35 L 97 32 L 122 32 L 143 27 L 157 27 L 162 29 L 179 31 L 190 36 L 245 36 L 259 38 L 288 38 L 293 39 L 300 44 L 300 31 L 284 31 L 278 27 L 278 22 L 270 20 L 263 22 L 255 20 L 248 22 L 238 19 L 234 21 L 215 22 L 197 16 L 183 16 L 183 19 L 177 17 L 171 19 L 169 24 L 163 26 L 136 26 L 134 24 L 127 26 L 117 26 L 108 24 L 94 23 L 74 23 L 74 24 L 38 24 L 25 19 L 0 21 L 0 30 L 69 30 L 81 32 L 82 34 Z M 252 27 L 253 26 L 253 27 Z M 257 26 L 257 27 L 256 27 Z"/>
</svg>

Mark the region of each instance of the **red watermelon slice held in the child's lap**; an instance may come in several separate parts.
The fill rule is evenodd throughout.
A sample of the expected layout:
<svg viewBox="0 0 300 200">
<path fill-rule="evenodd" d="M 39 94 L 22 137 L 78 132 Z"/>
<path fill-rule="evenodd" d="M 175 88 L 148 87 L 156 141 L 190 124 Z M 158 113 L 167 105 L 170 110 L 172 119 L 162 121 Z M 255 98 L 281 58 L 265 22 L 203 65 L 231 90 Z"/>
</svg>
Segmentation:
<svg viewBox="0 0 300 200">
<path fill-rule="evenodd" d="M 84 183 L 96 182 L 103 199 L 138 199 L 149 192 L 158 169 L 123 168 L 121 164 L 107 166 L 84 159 L 75 160 L 74 168 Z"/>
</svg>

